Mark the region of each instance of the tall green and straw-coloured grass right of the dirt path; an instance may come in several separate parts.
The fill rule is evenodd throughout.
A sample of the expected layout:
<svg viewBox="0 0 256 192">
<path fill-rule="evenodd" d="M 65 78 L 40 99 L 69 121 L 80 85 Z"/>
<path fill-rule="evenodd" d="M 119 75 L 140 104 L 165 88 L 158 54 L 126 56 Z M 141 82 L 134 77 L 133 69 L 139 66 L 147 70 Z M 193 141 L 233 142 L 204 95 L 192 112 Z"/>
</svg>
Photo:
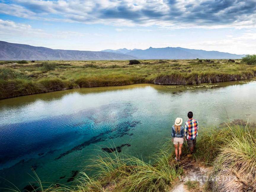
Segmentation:
<svg viewBox="0 0 256 192">
<path fill-rule="evenodd" d="M 213 165 L 212 191 L 256 191 L 255 124 L 234 121 L 199 138 L 194 156 Z"/>
</svg>

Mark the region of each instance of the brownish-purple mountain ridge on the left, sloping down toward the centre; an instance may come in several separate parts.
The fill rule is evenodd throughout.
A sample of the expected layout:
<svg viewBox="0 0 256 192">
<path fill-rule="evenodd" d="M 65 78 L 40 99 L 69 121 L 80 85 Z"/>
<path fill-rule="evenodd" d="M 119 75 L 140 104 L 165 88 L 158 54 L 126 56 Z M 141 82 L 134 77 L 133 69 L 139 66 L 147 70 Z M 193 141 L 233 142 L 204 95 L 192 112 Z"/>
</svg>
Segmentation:
<svg viewBox="0 0 256 192">
<path fill-rule="evenodd" d="M 122 53 L 101 51 L 75 51 L 34 47 L 0 41 L 0 60 L 129 60 Z"/>
</svg>

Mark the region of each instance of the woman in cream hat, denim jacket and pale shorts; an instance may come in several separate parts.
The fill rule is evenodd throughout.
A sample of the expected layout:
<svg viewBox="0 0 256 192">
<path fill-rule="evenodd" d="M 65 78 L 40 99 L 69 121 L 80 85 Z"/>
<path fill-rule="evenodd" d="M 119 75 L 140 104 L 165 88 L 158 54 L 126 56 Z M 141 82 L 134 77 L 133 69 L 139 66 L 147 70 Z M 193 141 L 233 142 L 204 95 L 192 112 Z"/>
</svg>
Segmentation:
<svg viewBox="0 0 256 192">
<path fill-rule="evenodd" d="M 181 148 L 183 145 L 184 128 L 181 126 L 182 122 L 182 118 L 178 117 L 175 120 L 175 125 L 172 126 L 172 142 L 175 147 L 176 161 L 180 161 Z"/>
</svg>

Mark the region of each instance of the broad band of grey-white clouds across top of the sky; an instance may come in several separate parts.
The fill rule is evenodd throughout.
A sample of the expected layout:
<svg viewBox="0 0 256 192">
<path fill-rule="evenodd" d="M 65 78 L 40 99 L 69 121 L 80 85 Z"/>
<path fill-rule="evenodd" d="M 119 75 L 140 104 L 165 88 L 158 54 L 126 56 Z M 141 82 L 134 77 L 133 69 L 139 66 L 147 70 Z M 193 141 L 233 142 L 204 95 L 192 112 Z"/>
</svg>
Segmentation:
<svg viewBox="0 0 256 192">
<path fill-rule="evenodd" d="M 256 1 L 240 0 L 15 0 L 0 12 L 18 17 L 163 28 L 254 28 Z"/>
</svg>

